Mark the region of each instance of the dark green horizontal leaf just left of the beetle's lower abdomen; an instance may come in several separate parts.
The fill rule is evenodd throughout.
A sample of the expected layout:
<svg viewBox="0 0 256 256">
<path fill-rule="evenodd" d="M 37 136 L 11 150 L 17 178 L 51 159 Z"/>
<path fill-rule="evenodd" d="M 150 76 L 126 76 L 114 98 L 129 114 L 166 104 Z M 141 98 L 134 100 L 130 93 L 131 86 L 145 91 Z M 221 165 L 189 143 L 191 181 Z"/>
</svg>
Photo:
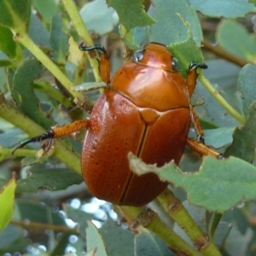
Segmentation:
<svg viewBox="0 0 256 256">
<path fill-rule="evenodd" d="M 38 189 L 52 191 L 67 189 L 73 184 L 83 182 L 77 172 L 68 168 L 36 169 L 29 171 L 29 176 L 18 180 L 16 192 L 34 193 Z"/>
</svg>

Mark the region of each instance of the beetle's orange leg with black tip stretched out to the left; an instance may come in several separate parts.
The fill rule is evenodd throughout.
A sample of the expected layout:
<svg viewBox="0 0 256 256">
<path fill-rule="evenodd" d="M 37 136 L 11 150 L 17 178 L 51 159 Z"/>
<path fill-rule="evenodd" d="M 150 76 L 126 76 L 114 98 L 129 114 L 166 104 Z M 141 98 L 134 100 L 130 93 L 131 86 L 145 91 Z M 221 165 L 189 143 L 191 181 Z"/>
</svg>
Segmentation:
<svg viewBox="0 0 256 256">
<path fill-rule="evenodd" d="M 41 134 L 38 137 L 32 137 L 20 143 L 20 145 L 13 150 L 12 154 L 14 154 L 17 149 L 26 146 L 28 143 L 39 143 L 47 139 L 53 140 L 57 137 L 66 137 L 68 135 L 71 135 L 73 132 L 81 131 L 82 129 L 87 127 L 88 122 L 89 119 L 80 119 L 67 125 L 52 127 L 44 134 Z"/>
</svg>

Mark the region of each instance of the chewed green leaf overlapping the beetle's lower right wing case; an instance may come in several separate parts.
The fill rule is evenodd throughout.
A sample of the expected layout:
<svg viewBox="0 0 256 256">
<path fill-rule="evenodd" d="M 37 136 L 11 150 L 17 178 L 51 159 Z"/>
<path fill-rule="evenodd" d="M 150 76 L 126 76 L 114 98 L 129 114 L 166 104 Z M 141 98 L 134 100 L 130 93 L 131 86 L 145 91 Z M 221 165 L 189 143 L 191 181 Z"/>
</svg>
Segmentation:
<svg viewBox="0 0 256 256">
<path fill-rule="evenodd" d="M 256 167 L 230 157 L 205 157 L 198 172 L 182 172 L 173 162 L 157 168 L 130 154 L 131 170 L 139 175 L 154 172 L 160 179 L 183 188 L 189 202 L 209 211 L 224 212 L 241 201 L 256 199 Z"/>
</svg>

